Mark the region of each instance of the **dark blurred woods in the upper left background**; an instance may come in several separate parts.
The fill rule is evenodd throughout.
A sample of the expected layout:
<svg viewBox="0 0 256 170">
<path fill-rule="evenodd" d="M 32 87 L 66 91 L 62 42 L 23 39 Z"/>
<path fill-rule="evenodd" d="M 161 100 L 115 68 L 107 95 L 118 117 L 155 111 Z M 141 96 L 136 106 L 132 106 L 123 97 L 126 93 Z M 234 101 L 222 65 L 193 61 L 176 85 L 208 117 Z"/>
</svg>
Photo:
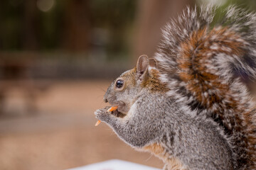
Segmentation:
<svg viewBox="0 0 256 170">
<path fill-rule="evenodd" d="M 10 0 L 0 3 L 0 50 L 128 52 L 136 0 Z"/>
</svg>

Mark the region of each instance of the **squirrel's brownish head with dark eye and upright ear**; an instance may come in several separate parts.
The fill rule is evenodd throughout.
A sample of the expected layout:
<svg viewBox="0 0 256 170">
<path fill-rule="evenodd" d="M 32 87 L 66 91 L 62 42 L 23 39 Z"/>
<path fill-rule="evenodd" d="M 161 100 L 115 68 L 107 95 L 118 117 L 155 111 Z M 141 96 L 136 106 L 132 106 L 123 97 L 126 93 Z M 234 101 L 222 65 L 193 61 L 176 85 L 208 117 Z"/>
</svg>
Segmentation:
<svg viewBox="0 0 256 170">
<path fill-rule="evenodd" d="M 104 101 L 117 106 L 118 111 L 127 114 L 137 97 L 143 93 L 159 91 L 159 71 L 154 59 L 146 55 L 139 57 L 136 67 L 122 73 L 110 84 Z"/>
</svg>

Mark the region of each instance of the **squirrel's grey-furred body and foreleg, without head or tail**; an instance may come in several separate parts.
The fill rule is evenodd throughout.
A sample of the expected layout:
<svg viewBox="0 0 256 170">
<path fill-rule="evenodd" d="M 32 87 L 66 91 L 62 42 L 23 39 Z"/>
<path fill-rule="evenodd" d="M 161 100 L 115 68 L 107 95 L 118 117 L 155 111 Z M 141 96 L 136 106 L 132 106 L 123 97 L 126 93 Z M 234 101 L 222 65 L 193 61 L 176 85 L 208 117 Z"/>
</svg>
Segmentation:
<svg viewBox="0 0 256 170">
<path fill-rule="evenodd" d="M 127 96 L 128 98 L 130 96 Z M 134 96 L 132 96 L 134 98 Z M 233 169 L 228 139 L 212 120 L 187 115 L 173 98 L 146 89 L 124 118 L 95 112 L 128 145 L 141 149 L 160 143 L 169 157 L 177 157 L 189 169 Z"/>
</svg>

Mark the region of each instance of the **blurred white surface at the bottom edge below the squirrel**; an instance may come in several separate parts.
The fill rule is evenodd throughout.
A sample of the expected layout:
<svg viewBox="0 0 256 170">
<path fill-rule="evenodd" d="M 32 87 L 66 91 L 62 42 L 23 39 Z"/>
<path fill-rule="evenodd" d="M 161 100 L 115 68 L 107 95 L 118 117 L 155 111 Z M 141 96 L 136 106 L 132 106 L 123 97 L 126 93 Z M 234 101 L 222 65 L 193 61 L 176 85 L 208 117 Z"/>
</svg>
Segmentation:
<svg viewBox="0 0 256 170">
<path fill-rule="evenodd" d="M 111 159 L 105 162 L 99 162 L 96 164 L 90 164 L 87 166 L 81 166 L 69 170 L 160 170 L 141 164 L 135 164 L 132 162 L 126 162 L 119 159 Z"/>
</svg>

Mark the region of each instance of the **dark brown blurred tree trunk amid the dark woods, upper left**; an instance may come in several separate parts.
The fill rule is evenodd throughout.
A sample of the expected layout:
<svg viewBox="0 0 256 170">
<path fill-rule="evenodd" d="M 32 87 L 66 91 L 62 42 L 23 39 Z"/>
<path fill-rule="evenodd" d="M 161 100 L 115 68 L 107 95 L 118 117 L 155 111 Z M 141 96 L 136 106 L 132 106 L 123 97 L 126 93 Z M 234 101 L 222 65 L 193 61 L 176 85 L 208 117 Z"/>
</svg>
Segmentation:
<svg viewBox="0 0 256 170">
<path fill-rule="evenodd" d="M 66 3 L 62 44 L 66 50 L 86 51 L 90 45 L 90 1 L 70 0 Z"/>
</svg>

